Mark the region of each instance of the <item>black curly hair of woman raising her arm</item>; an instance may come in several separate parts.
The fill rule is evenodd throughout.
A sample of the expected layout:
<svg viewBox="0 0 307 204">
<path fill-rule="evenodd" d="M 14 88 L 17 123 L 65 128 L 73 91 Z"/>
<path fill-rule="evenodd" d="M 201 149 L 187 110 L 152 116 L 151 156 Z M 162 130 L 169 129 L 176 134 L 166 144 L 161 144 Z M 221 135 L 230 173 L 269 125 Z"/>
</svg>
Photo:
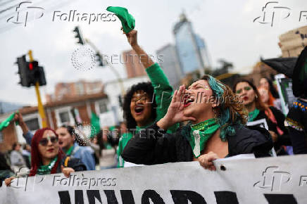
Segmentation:
<svg viewBox="0 0 307 204">
<path fill-rule="evenodd" d="M 151 82 L 141 82 L 134 84 L 124 97 L 123 111 L 124 118 L 127 121 L 127 129 L 135 129 L 137 127 L 137 122 L 134 120 L 130 110 L 130 103 L 132 96 L 136 91 L 144 91 L 146 94 L 149 94 L 150 98 L 153 98 L 153 103 L 151 103 L 151 118 L 154 120 L 156 118 L 156 98 L 153 97 L 153 86 Z"/>
</svg>

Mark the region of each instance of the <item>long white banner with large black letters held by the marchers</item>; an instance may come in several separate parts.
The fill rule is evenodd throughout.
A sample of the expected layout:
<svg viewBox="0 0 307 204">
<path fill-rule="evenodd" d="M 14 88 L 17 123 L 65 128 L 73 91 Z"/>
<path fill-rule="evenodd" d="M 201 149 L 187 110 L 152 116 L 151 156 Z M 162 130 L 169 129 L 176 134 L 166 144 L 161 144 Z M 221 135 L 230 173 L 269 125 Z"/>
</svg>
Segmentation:
<svg viewBox="0 0 307 204">
<path fill-rule="evenodd" d="M 307 203 L 307 155 L 128 167 L 14 179 L 0 203 Z"/>
</svg>

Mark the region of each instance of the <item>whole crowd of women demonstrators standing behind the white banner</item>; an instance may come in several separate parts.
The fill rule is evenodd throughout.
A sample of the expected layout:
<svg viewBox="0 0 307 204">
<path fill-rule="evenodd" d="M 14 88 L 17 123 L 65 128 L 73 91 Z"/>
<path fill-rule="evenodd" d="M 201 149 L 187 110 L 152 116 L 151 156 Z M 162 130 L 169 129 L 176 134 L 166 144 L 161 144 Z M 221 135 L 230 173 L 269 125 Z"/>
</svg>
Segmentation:
<svg viewBox="0 0 307 204">
<path fill-rule="evenodd" d="M 20 168 L 29 176 L 101 170 L 165 162 L 199 161 L 215 170 L 213 160 L 253 153 L 256 158 L 307 153 L 307 49 L 301 53 L 293 75 L 293 92 L 298 99 L 287 117 L 272 81 L 239 79 L 232 89 L 211 75 L 203 75 L 188 89 L 173 92 L 158 63 L 137 42 L 137 31 L 125 33 L 151 82 L 134 84 L 124 97 L 119 127 L 103 127 L 89 140 L 75 128 L 39 129 L 33 135 L 20 113 L 14 120 L 23 130 L 27 144 L 13 144 L 10 157 L 0 154 L 0 179 L 6 185 Z M 200 97 L 199 97 L 200 96 Z M 265 119 L 268 130 L 250 125 Z"/>
</svg>

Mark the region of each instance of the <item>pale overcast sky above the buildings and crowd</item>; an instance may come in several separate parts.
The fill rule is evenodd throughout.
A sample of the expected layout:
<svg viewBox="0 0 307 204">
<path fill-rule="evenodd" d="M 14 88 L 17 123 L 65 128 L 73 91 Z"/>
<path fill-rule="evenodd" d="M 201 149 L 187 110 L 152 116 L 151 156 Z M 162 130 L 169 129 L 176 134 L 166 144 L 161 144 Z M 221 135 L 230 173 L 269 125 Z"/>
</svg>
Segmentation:
<svg viewBox="0 0 307 204">
<path fill-rule="evenodd" d="M 21 1 L 0 0 L 0 101 L 35 105 L 34 88 L 21 87 L 18 68 L 13 63 L 16 57 L 32 49 L 35 60 L 44 66 L 47 85 L 41 87 L 44 101 L 45 94 L 54 92 L 57 82 L 75 82 L 78 79 L 100 79 L 103 82 L 115 79 L 107 67 L 91 70 L 76 70 L 71 57 L 80 47 L 76 43 L 75 25 L 80 26 L 83 36 L 90 39 L 101 51 L 108 55 L 120 54 L 130 49 L 125 35 L 120 32 L 120 21 L 115 22 L 68 22 L 55 18 L 54 11 L 69 13 L 108 13 L 108 6 L 123 6 L 134 16 L 139 32 L 139 44 L 147 53 L 156 55 L 156 50 L 168 43 L 174 43 L 173 25 L 184 11 L 193 23 L 194 32 L 206 42 L 214 66 L 217 60 L 224 58 L 234 64 L 234 71 L 248 72 L 263 58 L 275 58 L 281 55 L 277 46 L 280 34 L 296 27 L 307 25 L 306 17 L 299 22 L 300 11 L 307 11 L 306 0 L 278 1 L 278 6 L 289 9 L 275 9 L 274 24 L 261 24 L 253 20 L 263 16 L 262 7 L 268 1 L 263 0 L 173 0 L 173 1 L 32 1 L 34 6 L 44 8 L 42 18 L 23 24 L 14 24 L 7 19 L 15 15 L 15 8 L 8 9 Z M 58 3 L 61 2 L 61 3 Z M 37 10 L 37 12 L 39 12 Z M 287 13 L 288 18 L 282 19 Z M 307 14 L 307 12 L 306 12 Z M 126 72 L 123 65 L 114 65 L 122 77 Z"/>
</svg>

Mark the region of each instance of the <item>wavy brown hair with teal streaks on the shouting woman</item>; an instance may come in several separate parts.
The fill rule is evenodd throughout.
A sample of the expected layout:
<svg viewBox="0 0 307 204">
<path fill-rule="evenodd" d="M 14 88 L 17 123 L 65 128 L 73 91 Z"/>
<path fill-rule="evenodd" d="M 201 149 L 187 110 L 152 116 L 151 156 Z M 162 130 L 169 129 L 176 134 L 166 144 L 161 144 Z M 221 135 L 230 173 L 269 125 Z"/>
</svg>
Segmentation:
<svg viewBox="0 0 307 204">
<path fill-rule="evenodd" d="M 203 75 L 201 79 L 206 80 L 213 91 L 213 96 L 217 99 L 218 107 L 217 117 L 220 123 L 220 137 L 226 140 L 227 134 L 235 134 L 234 125 L 246 124 L 246 112 L 243 110 L 243 104 L 239 97 L 235 96 L 232 89 L 223 82 L 215 79 L 211 75 Z"/>
</svg>

